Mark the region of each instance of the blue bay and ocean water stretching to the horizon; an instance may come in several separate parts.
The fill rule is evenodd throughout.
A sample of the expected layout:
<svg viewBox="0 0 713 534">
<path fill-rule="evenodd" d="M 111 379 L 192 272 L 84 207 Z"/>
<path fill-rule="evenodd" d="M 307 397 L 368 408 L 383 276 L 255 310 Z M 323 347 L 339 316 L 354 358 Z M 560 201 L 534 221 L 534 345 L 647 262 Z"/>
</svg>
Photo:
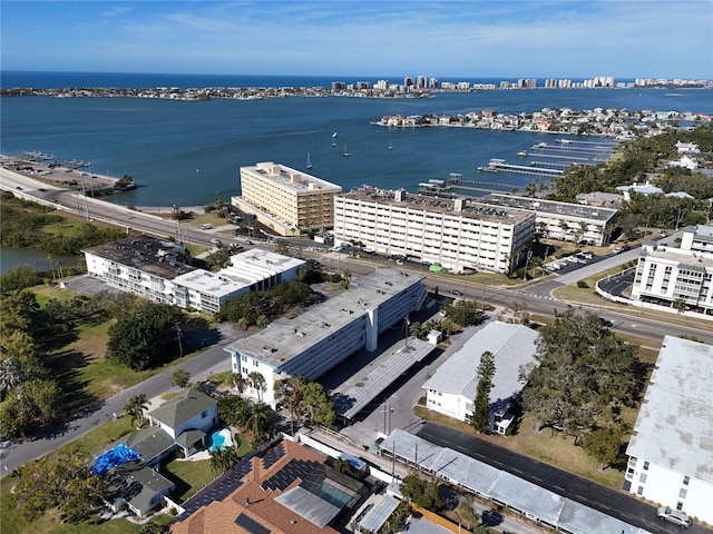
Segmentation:
<svg viewBox="0 0 713 534">
<path fill-rule="evenodd" d="M 359 78 L 375 81 L 379 78 Z M 355 81 L 336 78 L 340 81 Z M 33 82 L 35 81 L 35 82 Z M 264 87 L 329 86 L 331 78 L 3 72 L 2 87 Z M 484 81 L 484 80 L 480 80 Z M 499 81 L 499 80 L 498 80 Z M 39 85 L 39 83 L 42 85 Z M 515 161 L 519 150 L 554 141 L 546 134 L 371 126 L 384 115 L 478 109 L 511 113 L 543 108 L 626 108 L 713 112 L 703 89 L 540 89 L 439 93 L 428 99 L 280 98 L 169 101 L 136 98 L 3 98 L 0 152 L 39 150 L 91 161 L 91 171 L 130 175 L 140 185 L 111 198 L 137 206 L 196 206 L 240 194 L 240 167 L 276 161 L 339 184 L 416 191 L 431 178 L 463 178 L 522 187 L 527 177 L 478 175 L 490 158 Z M 336 146 L 332 134 L 336 132 Z M 388 149 L 389 144 L 393 146 Z M 342 156 L 344 149 L 351 154 Z"/>
</svg>

